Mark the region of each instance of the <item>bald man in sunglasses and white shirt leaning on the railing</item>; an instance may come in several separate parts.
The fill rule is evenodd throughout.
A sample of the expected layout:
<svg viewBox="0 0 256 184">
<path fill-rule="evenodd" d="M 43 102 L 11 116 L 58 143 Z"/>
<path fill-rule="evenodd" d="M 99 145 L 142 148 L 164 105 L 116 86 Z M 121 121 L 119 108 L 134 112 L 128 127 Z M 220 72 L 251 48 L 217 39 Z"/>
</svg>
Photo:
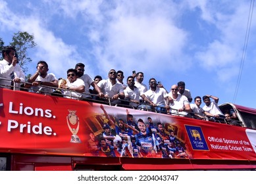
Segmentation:
<svg viewBox="0 0 256 184">
<path fill-rule="evenodd" d="M 190 102 L 185 95 L 178 94 L 178 85 L 172 85 L 170 93 L 168 93 L 170 101 L 170 113 L 175 116 L 188 116 L 191 112 Z"/>
</svg>

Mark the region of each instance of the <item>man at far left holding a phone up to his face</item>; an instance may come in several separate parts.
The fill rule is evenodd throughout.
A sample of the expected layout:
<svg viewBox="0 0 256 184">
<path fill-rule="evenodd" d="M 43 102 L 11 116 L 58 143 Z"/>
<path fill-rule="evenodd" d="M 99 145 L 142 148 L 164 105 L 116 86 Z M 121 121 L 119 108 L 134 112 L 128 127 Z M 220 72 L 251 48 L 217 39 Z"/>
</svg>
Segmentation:
<svg viewBox="0 0 256 184">
<path fill-rule="evenodd" d="M 12 89 L 13 82 L 16 83 L 15 87 L 20 87 L 20 82 L 25 81 L 24 72 L 17 64 L 18 55 L 15 53 L 14 47 L 3 47 L 3 60 L 0 60 L 0 78 L 6 78 L 7 80 L 0 80 L 0 87 Z"/>
</svg>

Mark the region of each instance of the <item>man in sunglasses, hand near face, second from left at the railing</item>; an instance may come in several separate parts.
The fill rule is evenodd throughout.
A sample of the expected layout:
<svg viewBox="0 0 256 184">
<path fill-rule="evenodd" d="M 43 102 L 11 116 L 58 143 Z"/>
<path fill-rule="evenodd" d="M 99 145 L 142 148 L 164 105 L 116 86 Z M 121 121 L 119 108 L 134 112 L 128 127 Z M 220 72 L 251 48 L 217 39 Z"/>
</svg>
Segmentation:
<svg viewBox="0 0 256 184">
<path fill-rule="evenodd" d="M 39 60 L 36 66 L 36 72 L 29 79 L 28 82 L 31 85 L 26 84 L 25 87 L 31 87 L 31 92 L 48 94 L 53 92 L 53 88 L 58 87 L 58 80 L 53 73 L 48 74 L 48 64 L 44 60 Z M 47 85 L 50 87 L 44 87 L 41 85 Z"/>
</svg>

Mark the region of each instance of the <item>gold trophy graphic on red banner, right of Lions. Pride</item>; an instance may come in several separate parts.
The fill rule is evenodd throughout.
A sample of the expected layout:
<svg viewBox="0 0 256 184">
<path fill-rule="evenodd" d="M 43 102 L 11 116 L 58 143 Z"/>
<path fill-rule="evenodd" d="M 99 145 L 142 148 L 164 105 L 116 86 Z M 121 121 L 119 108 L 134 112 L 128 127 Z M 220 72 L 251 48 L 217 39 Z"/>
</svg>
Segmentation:
<svg viewBox="0 0 256 184">
<path fill-rule="evenodd" d="M 79 118 L 76 116 L 76 110 L 68 111 L 69 114 L 66 116 L 66 123 L 68 124 L 68 128 L 72 133 L 70 143 L 81 143 L 81 140 L 77 135 L 79 130 Z"/>
</svg>

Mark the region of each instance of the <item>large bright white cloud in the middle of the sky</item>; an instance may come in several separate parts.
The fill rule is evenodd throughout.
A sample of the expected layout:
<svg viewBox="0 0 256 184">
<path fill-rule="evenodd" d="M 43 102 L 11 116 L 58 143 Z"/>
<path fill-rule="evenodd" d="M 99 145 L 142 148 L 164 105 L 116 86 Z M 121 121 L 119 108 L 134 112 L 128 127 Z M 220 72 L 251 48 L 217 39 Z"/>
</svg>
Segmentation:
<svg viewBox="0 0 256 184">
<path fill-rule="evenodd" d="M 106 72 L 110 68 L 130 72 L 136 68 L 175 70 L 168 67 L 172 64 L 184 69 L 189 66 L 184 64 L 188 60 L 182 59 L 187 34 L 171 18 L 177 16 L 178 10 L 159 1 L 116 2 L 115 8 L 105 9 L 104 18 L 90 27 L 93 53 L 101 68 Z"/>
</svg>

